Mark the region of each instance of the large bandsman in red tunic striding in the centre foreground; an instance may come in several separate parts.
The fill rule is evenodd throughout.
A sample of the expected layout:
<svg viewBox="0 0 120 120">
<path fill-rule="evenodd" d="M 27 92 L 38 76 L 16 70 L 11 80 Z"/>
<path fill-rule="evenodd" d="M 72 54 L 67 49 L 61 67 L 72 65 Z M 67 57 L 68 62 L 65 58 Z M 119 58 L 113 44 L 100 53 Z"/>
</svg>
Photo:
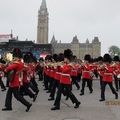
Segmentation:
<svg viewBox="0 0 120 120">
<path fill-rule="evenodd" d="M 71 89 L 69 87 L 69 85 L 71 84 L 71 77 L 70 77 L 71 66 L 69 65 L 71 58 L 72 58 L 72 51 L 69 49 L 65 50 L 64 51 L 64 62 L 66 62 L 66 64 L 63 67 L 61 67 L 62 73 L 61 73 L 60 84 L 59 84 L 57 96 L 54 102 L 54 107 L 51 108 L 51 110 L 60 109 L 61 93 L 64 89 L 66 90 L 67 95 L 71 99 L 72 103 L 73 104 L 75 103 L 74 108 L 78 108 L 80 105 L 80 102 L 77 100 L 75 95 L 71 92 Z"/>
</svg>

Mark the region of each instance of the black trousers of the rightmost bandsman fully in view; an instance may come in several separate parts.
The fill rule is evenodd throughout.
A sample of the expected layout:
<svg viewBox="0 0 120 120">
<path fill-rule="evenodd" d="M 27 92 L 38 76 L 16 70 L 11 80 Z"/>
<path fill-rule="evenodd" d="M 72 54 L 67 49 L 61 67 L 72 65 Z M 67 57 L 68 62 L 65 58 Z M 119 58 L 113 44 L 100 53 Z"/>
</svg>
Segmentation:
<svg viewBox="0 0 120 120">
<path fill-rule="evenodd" d="M 115 91 L 115 88 L 113 87 L 112 82 L 102 81 L 102 89 L 101 89 L 101 98 L 102 98 L 102 99 L 105 99 L 105 87 L 106 87 L 107 84 L 109 85 L 112 93 L 113 93 L 113 94 L 117 94 L 117 92 Z"/>
</svg>

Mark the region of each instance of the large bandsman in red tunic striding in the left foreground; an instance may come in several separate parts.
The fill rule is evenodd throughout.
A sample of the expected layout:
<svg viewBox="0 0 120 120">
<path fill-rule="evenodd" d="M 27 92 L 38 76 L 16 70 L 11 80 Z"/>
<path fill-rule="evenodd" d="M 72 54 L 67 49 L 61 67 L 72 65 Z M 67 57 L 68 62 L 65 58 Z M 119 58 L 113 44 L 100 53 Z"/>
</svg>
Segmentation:
<svg viewBox="0 0 120 120">
<path fill-rule="evenodd" d="M 12 94 L 18 101 L 20 101 L 23 105 L 26 106 L 26 112 L 28 112 L 30 107 L 32 106 L 32 104 L 25 100 L 19 93 L 19 87 L 21 86 L 20 71 L 23 68 L 23 63 L 20 60 L 21 57 L 22 57 L 21 50 L 15 48 L 13 50 L 14 61 L 5 70 L 7 73 L 11 70 L 14 70 L 14 76 L 12 81 L 10 81 L 9 83 L 9 88 L 5 99 L 5 108 L 3 108 L 2 111 L 12 110 Z"/>
</svg>

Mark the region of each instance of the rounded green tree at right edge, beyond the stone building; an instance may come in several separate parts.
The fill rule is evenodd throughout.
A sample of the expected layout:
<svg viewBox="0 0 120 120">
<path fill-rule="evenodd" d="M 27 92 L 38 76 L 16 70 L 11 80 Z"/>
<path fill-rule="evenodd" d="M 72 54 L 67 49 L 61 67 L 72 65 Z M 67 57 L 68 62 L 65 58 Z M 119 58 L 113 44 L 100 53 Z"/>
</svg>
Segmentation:
<svg viewBox="0 0 120 120">
<path fill-rule="evenodd" d="M 114 57 L 115 55 L 120 55 L 120 49 L 115 45 L 112 45 L 111 47 L 109 47 L 108 52 L 112 57 Z"/>
</svg>

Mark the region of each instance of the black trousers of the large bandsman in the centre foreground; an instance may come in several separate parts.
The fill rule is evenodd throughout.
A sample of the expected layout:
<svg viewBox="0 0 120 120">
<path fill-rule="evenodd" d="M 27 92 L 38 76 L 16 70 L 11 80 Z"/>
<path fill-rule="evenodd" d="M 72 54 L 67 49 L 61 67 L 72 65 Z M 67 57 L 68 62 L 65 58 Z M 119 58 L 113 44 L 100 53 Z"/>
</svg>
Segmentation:
<svg viewBox="0 0 120 120">
<path fill-rule="evenodd" d="M 57 96 L 54 102 L 55 106 L 60 107 L 61 94 L 62 94 L 62 91 L 64 91 L 64 89 L 66 90 L 67 95 L 71 99 L 72 103 L 79 102 L 77 98 L 74 96 L 74 94 L 71 92 L 69 85 L 60 83 L 57 91 Z"/>
</svg>

